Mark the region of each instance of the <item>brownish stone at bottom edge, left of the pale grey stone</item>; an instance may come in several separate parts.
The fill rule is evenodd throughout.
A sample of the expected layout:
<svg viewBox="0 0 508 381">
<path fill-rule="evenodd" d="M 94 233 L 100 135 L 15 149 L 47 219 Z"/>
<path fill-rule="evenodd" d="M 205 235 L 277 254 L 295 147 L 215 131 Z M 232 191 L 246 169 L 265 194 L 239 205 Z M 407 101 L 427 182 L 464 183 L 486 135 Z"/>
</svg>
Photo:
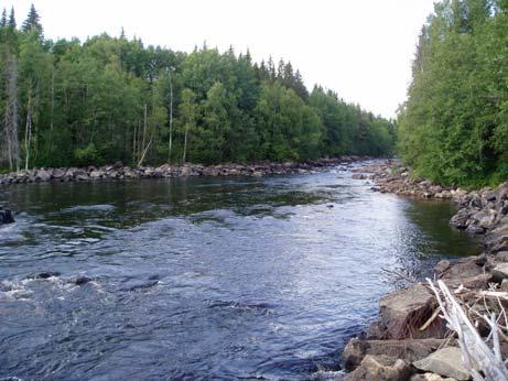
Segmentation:
<svg viewBox="0 0 508 381">
<path fill-rule="evenodd" d="M 367 355 L 361 364 L 346 375 L 345 381 L 406 381 L 413 373 L 404 360 L 388 356 Z"/>
</svg>

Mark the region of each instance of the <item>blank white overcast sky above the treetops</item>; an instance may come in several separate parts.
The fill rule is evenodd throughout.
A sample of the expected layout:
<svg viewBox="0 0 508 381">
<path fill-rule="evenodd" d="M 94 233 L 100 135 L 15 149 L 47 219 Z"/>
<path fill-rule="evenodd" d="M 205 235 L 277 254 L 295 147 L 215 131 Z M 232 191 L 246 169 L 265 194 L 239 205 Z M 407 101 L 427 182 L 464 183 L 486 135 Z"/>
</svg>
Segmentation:
<svg viewBox="0 0 508 381">
<path fill-rule="evenodd" d="M 406 99 L 411 62 L 433 0 L 15 0 L 18 24 L 31 3 L 47 39 L 107 32 L 191 52 L 249 48 L 260 62 L 290 61 L 320 84 L 387 118 Z"/>
</svg>

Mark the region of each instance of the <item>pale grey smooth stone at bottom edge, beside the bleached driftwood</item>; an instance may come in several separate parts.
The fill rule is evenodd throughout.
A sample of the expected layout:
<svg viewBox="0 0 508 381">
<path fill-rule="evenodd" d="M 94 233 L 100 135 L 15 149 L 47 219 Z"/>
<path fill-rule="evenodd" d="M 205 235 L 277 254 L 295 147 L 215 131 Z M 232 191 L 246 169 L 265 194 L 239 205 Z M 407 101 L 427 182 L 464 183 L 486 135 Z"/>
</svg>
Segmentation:
<svg viewBox="0 0 508 381">
<path fill-rule="evenodd" d="M 435 351 L 429 357 L 413 362 L 413 367 L 426 372 L 455 380 L 469 380 L 471 374 L 462 363 L 462 352 L 457 347 L 447 347 Z"/>
</svg>

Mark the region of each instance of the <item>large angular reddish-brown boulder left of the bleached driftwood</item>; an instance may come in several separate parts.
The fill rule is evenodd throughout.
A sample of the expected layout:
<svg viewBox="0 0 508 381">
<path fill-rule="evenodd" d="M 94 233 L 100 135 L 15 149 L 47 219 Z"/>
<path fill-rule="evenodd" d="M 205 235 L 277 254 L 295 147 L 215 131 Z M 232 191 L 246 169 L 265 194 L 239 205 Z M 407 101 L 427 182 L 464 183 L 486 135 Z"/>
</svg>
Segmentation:
<svg viewBox="0 0 508 381">
<path fill-rule="evenodd" d="M 392 339 L 442 338 L 446 331 L 441 319 L 420 330 L 436 308 L 434 295 L 422 283 L 383 296 L 379 305 L 381 323 Z"/>
</svg>

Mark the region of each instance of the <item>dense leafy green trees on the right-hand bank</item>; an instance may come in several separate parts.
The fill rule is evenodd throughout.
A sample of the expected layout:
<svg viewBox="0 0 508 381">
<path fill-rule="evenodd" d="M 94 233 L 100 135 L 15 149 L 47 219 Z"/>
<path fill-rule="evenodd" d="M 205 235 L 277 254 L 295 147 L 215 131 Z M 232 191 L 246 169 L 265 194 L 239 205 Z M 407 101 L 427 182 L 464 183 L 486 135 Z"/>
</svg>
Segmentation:
<svg viewBox="0 0 508 381">
<path fill-rule="evenodd" d="M 423 26 L 399 152 L 445 184 L 508 178 L 508 1 L 451 0 Z"/>
</svg>

